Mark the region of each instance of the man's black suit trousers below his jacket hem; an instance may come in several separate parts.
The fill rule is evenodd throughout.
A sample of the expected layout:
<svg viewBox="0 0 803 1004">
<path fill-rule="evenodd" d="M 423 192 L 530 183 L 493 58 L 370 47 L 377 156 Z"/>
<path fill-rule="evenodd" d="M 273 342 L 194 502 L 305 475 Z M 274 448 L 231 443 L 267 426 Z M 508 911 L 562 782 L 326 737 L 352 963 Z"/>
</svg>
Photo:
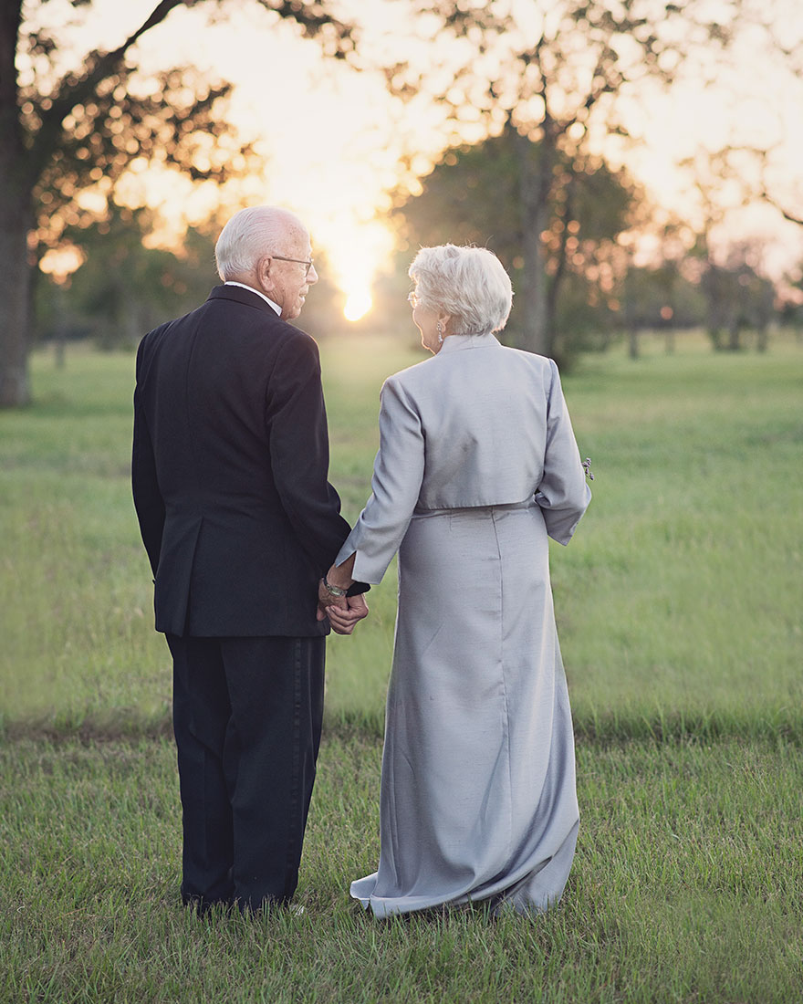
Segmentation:
<svg viewBox="0 0 803 1004">
<path fill-rule="evenodd" d="M 174 730 L 185 903 L 286 903 L 323 716 L 325 638 L 181 638 Z"/>
</svg>

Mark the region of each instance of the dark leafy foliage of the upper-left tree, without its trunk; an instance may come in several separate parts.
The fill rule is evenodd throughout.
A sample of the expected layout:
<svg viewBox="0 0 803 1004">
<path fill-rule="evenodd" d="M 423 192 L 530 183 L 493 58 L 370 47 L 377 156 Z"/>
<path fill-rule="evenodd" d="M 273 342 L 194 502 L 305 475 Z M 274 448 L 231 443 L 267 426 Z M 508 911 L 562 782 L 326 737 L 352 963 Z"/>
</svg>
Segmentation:
<svg viewBox="0 0 803 1004">
<path fill-rule="evenodd" d="M 39 0 L 44 5 L 48 0 Z M 86 6 L 90 0 L 73 0 Z M 207 0 L 209 2 L 209 0 Z M 295 20 L 306 34 L 329 29 L 332 54 L 348 47 L 350 29 L 325 17 L 325 4 L 271 3 L 266 9 Z M 36 179 L 37 248 L 57 246 L 63 228 L 96 217 L 76 200 L 87 188 L 108 195 L 135 161 L 172 166 L 194 181 L 226 181 L 242 174 L 251 148 L 232 133 L 221 101 L 231 85 L 210 84 L 192 66 L 163 70 L 143 78 L 130 50 L 137 40 L 177 7 L 198 0 L 163 0 L 144 24 L 113 52 L 87 54 L 81 70 L 58 81 L 30 74 L 18 87 L 19 126 L 26 170 Z M 315 8 L 318 8 L 315 10 Z M 54 34 L 36 25 L 27 10 L 20 27 L 18 58 L 34 67 L 58 48 Z"/>
</svg>

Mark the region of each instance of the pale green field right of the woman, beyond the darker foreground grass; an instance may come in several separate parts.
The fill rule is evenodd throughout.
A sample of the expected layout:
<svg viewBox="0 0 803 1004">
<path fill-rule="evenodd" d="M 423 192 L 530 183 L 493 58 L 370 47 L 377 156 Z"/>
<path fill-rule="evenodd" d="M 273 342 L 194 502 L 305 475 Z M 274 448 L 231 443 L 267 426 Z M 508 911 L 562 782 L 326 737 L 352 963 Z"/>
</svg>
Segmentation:
<svg viewBox="0 0 803 1004">
<path fill-rule="evenodd" d="M 802 361 L 594 359 L 569 383 L 598 459 L 554 569 L 580 719 L 803 736 Z"/>
</svg>

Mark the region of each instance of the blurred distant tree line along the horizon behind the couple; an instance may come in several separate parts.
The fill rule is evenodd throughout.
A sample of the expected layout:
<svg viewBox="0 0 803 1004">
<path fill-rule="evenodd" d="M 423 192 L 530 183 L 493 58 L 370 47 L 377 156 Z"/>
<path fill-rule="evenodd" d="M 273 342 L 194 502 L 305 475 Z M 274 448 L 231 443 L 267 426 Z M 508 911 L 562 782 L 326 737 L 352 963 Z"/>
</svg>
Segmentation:
<svg viewBox="0 0 803 1004">
<path fill-rule="evenodd" d="M 490 247 L 514 289 L 526 285 L 517 146 L 507 127 L 483 143 L 449 150 L 423 179 L 421 194 L 396 193 L 395 270 L 377 281 L 374 310 L 357 329 L 411 330 L 407 266 L 421 245 L 452 241 Z M 537 160 L 538 145 L 530 147 L 529 156 Z M 575 163 L 571 172 L 560 164 L 553 170 L 558 194 L 550 228 L 542 235 L 546 318 L 550 354 L 564 365 L 579 351 L 604 349 L 621 337 L 635 356 L 645 329 L 664 332 L 671 349 L 675 332 L 704 327 L 713 348 L 723 351 L 766 349 L 774 323 L 803 330 L 803 307 L 795 297 L 803 292 L 803 280 L 771 281 L 762 273 L 760 248 L 735 245 L 716 259 L 703 234 L 686 246 L 678 224 L 664 226 L 649 264 L 637 263 L 622 237 L 649 218 L 650 207 L 626 172 L 591 158 Z M 130 347 L 166 317 L 205 299 L 219 281 L 217 226 L 190 228 L 175 252 L 146 246 L 152 226 L 147 210 L 111 202 L 103 220 L 65 231 L 84 263 L 66 281 L 39 284 L 37 338 L 89 336 L 101 347 Z M 300 323 L 318 337 L 353 329 L 342 316 L 342 294 L 325 260 L 318 260 L 321 279 Z M 518 295 L 503 336 L 526 346 L 526 302 Z"/>
</svg>

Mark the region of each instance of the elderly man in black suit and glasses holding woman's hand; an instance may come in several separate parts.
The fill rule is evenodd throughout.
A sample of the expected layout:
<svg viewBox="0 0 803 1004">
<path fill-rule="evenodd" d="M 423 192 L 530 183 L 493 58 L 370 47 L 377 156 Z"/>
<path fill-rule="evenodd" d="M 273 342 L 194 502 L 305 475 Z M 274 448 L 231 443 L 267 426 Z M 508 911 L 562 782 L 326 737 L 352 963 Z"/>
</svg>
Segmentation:
<svg viewBox="0 0 803 1004">
<path fill-rule="evenodd" d="M 298 881 L 323 705 L 318 589 L 349 533 L 328 483 L 317 345 L 289 324 L 318 276 L 292 213 L 245 209 L 216 246 L 223 285 L 137 356 L 132 486 L 174 664 L 182 898 L 258 910 Z M 325 577 L 324 577 L 325 583 Z"/>
</svg>

